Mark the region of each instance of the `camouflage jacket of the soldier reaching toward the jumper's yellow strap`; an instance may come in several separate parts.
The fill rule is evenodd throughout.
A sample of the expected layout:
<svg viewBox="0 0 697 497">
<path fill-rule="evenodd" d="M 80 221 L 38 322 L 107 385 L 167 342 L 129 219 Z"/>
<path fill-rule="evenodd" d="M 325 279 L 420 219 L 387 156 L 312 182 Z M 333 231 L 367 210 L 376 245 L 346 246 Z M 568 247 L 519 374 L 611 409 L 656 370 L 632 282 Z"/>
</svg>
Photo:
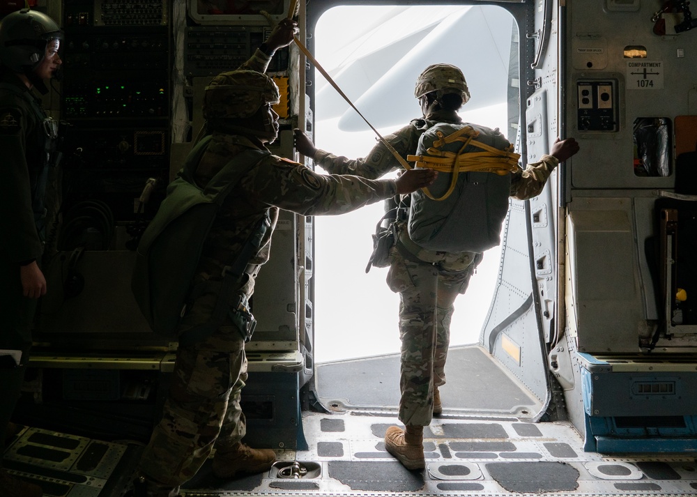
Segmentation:
<svg viewBox="0 0 697 497">
<path fill-rule="evenodd" d="M 263 145 L 239 135 L 214 133 L 197 167 L 197 183 L 206 185 L 217 171 L 246 148 L 263 149 Z M 252 256 L 250 262 L 253 264 L 268 260 L 279 208 L 301 215 L 343 214 L 396 193 L 397 185 L 393 180 L 316 174 L 297 162 L 268 155 L 227 195 L 204 244 L 197 271 L 199 277 L 218 279 L 221 269 L 232 263 L 267 210 L 271 229 L 266 231 L 259 251 Z"/>
</svg>

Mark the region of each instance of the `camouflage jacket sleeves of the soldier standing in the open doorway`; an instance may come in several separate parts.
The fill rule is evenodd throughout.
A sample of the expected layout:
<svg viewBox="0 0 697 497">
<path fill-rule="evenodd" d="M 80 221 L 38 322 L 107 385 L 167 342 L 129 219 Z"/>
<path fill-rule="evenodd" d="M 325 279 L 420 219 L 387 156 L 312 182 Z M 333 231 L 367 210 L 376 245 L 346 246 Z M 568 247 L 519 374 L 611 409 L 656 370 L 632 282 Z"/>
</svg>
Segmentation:
<svg viewBox="0 0 697 497">
<path fill-rule="evenodd" d="M 459 124 L 462 123 L 462 119 L 452 111 L 434 112 L 425 119 L 414 119 L 401 130 L 385 136 L 385 140 L 406 160 L 408 154 L 416 153 L 419 138 L 424 131 L 436 123 Z M 382 142 L 378 142 L 365 158 L 352 160 L 318 150 L 314 155 L 314 161 L 331 174 L 356 174 L 364 178 L 379 178 L 401 168 L 397 159 Z M 528 164 L 524 170 L 520 169 L 511 178 L 510 196 L 525 200 L 539 195 L 547 178 L 558 164 L 559 161 L 552 155 L 542 155 L 539 162 Z"/>
</svg>

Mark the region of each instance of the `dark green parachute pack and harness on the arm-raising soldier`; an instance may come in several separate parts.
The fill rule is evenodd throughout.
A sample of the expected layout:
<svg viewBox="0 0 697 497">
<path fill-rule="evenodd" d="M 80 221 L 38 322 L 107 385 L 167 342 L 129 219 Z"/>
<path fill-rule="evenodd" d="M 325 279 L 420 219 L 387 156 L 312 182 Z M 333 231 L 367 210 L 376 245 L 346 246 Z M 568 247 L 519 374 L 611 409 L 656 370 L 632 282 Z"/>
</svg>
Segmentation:
<svg viewBox="0 0 697 497">
<path fill-rule="evenodd" d="M 262 158 L 270 155 L 269 151 L 254 149 L 240 153 L 220 169 L 206 188 L 200 188 L 194 182 L 193 174 L 209 141 L 210 135 L 202 139 L 188 155 L 185 166 L 167 187 L 167 197 L 138 244 L 131 289 L 153 331 L 169 339 L 177 339 L 176 330 L 187 310 L 204 241 L 218 209 L 240 178 Z M 266 223 L 260 222 L 250 240 L 247 240 L 242 254 L 231 263 L 232 269 L 224 277 L 222 289 L 228 289 L 234 283 L 230 281 L 231 278 L 237 280 L 243 273 L 254 241 L 257 246 L 261 243 L 261 236 L 268 224 L 267 215 Z M 217 310 L 222 307 L 220 303 L 223 300 L 227 307 L 226 299 L 229 296 L 224 293 L 221 291 L 218 295 L 219 305 L 212 319 L 219 319 Z M 227 308 L 222 310 L 224 318 Z M 215 324 L 187 331 L 185 337 L 178 337 L 180 344 L 206 337 L 217 328 Z"/>
</svg>

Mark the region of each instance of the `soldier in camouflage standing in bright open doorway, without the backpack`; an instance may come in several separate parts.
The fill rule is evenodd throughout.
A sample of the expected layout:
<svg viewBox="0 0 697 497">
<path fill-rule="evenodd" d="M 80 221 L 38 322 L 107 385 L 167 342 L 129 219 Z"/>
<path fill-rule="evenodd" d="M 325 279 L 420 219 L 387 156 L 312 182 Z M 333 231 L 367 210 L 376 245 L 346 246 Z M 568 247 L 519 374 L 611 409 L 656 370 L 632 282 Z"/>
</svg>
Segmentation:
<svg viewBox="0 0 697 497">
<path fill-rule="evenodd" d="M 404 160 L 407 155 L 416 153 L 419 138 L 431 126 L 462 123 L 457 111 L 470 98 L 461 70 L 449 64 L 426 68 L 418 77 L 414 93 L 423 117 L 385 137 Z M 332 174 L 380 178 L 401 168 L 382 142 L 378 142 L 366 158 L 351 160 L 319 150 L 300 130 L 295 133 L 297 150 Z M 529 199 L 542 192 L 551 171 L 578 149 L 573 138 L 558 139 L 550 155 L 543 155 L 539 162 L 512 174 L 510 196 Z M 423 427 L 430 424 L 434 414 L 443 410 L 438 387 L 445 384 L 453 303 L 459 294 L 465 293 L 482 254 L 425 250 L 409 238 L 406 220 L 397 220 L 396 225 L 397 243 L 390 250 L 387 281 L 390 289 L 400 295 L 399 420 L 406 430 L 388 428 L 385 446 L 406 468 L 421 469 L 425 466 Z"/>
</svg>

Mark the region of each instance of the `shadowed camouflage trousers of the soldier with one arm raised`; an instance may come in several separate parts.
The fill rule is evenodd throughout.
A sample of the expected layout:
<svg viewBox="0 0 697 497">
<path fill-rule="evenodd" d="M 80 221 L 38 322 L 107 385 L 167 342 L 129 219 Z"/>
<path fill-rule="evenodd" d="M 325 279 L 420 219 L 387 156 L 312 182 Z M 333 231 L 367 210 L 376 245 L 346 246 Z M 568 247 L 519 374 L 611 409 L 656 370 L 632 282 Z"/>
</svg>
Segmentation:
<svg viewBox="0 0 697 497">
<path fill-rule="evenodd" d="M 172 376 L 162 420 L 139 471 L 158 486 L 174 488 L 199 471 L 214 446 L 229 448 L 246 434 L 240 392 L 247 381 L 247 357 L 240 331 L 226 322 L 207 339 L 180 346 Z"/>
</svg>

